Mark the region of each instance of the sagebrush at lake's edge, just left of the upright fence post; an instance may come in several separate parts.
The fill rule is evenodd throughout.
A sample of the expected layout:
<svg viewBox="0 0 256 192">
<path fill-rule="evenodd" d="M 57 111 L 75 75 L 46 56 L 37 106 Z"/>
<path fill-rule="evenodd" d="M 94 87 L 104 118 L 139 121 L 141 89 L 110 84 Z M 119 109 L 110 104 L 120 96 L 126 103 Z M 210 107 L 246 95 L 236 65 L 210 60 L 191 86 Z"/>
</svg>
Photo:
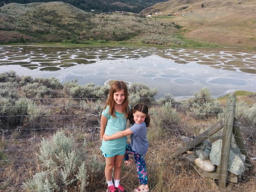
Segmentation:
<svg viewBox="0 0 256 192">
<path fill-rule="evenodd" d="M 218 101 L 212 98 L 208 88 L 202 88 L 199 92 L 195 92 L 194 97 L 190 98 L 187 103 L 192 116 L 198 119 L 215 116 L 223 111 Z"/>
</svg>

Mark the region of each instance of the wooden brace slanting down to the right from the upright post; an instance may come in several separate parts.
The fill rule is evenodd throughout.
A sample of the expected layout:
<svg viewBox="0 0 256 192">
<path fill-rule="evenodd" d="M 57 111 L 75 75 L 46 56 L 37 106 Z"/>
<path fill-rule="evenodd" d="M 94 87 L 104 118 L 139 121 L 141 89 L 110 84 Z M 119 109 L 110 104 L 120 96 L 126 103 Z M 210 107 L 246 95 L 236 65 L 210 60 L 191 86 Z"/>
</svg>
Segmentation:
<svg viewBox="0 0 256 192">
<path fill-rule="evenodd" d="M 245 155 L 245 162 L 247 164 L 250 164 L 250 168 L 253 169 L 254 166 L 252 164 L 252 161 L 251 161 L 251 158 L 250 156 L 248 155 L 246 149 L 245 149 L 245 146 L 244 146 L 244 140 L 242 139 L 242 133 L 241 133 L 241 130 L 238 126 L 238 121 L 234 120 L 234 126 L 233 126 L 233 134 L 234 134 L 234 138 L 235 138 L 235 141 L 236 141 L 236 144 L 237 146 L 240 148 L 240 152 Z M 246 166 L 248 167 L 248 166 Z"/>
</svg>

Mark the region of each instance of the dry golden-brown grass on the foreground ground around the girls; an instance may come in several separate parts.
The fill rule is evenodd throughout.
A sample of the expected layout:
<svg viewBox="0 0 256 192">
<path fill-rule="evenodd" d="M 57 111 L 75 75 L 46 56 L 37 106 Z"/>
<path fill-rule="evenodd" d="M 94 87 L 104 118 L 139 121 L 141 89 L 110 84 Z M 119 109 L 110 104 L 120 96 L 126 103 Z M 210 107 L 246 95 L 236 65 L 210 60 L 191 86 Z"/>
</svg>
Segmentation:
<svg viewBox="0 0 256 192">
<path fill-rule="evenodd" d="M 64 101 L 62 101 L 64 102 Z M 59 102 L 59 105 L 65 105 Z M 71 112 L 72 110 L 69 110 Z M 66 117 L 55 116 L 53 120 L 53 127 L 63 126 L 66 134 L 74 134 L 76 142 L 80 143 L 83 139 L 87 141 L 87 153 L 89 158 L 97 157 L 98 161 L 104 164 L 104 158 L 100 156 L 101 142 L 98 138 L 99 128 L 96 132 L 86 130 L 84 125 L 86 121 L 83 116 Z M 183 131 L 188 136 L 198 135 L 202 131 L 209 128 L 216 123 L 216 118 L 208 120 L 195 120 L 187 114 L 180 114 Z M 154 117 L 152 117 L 154 120 Z M 68 125 L 67 125 L 68 124 Z M 66 126 L 65 126 L 66 125 Z M 148 170 L 149 186 L 152 192 L 173 191 L 173 192 L 224 192 L 217 186 L 216 181 L 202 178 L 198 173 L 188 164 L 186 160 L 181 157 L 176 159 L 168 158 L 168 154 L 174 152 L 177 144 L 182 142 L 179 135 L 170 132 L 170 130 L 163 130 L 152 122 L 148 128 L 149 150 L 146 154 L 146 163 Z M 41 130 L 41 131 L 22 131 L 16 139 L 10 139 L 10 136 L 3 136 L 1 140 L 1 149 L 4 149 L 4 154 L 8 160 L 1 161 L 1 176 L 0 190 L 3 192 L 24 191 L 22 182 L 36 172 L 43 170 L 40 162 L 37 159 L 39 153 L 40 141 L 42 138 L 50 138 L 56 130 Z M 251 147 L 251 148 L 250 148 Z M 256 151 L 255 144 L 247 146 L 248 150 Z M 255 162 L 254 162 L 255 164 Z M 252 192 L 256 189 L 256 172 L 255 169 L 245 172 L 245 176 L 236 186 L 233 191 Z M 127 192 L 133 191 L 138 187 L 138 178 L 135 166 L 123 166 L 121 184 Z M 105 190 L 104 170 L 98 175 L 90 175 L 90 185 L 88 191 L 102 192 Z M 70 189 L 70 192 L 74 190 Z"/>
</svg>

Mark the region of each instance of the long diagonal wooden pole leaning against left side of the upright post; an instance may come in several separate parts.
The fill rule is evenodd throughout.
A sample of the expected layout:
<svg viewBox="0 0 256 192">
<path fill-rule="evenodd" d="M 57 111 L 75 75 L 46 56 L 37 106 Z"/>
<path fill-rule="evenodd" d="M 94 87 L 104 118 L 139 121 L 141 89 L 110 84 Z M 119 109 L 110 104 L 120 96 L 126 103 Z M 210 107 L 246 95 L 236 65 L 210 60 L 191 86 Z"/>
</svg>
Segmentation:
<svg viewBox="0 0 256 192">
<path fill-rule="evenodd" d="M 223 119 L 219 120 L 216 124 L 208 128 L 202 134 L 197 136 L 194 140 L 186 143 L 186 145 L 184 145 L 182 148 L 179 148 L 176 151 L 172 152 L 169 157 L 170 158 L 178 157 L 179 155 L 185 153 L 186 151 L 194 148 L 195 146 L 202 143 L 204 140 L 206 140 L 207 138 L 209 138 L 210 136 L 212 136 L 213 134 L 221 130 L 223 128 L 223 124 L 224 124 L 224 120 Z"/>
</svg>

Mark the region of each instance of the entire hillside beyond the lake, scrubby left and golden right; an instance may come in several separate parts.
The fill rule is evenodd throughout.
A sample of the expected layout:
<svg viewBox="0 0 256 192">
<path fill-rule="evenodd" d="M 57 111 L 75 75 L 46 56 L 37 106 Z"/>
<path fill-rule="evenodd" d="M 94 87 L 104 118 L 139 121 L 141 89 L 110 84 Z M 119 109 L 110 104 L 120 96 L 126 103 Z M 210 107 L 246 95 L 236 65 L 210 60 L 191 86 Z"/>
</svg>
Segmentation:
<svg viewBox="0 0 256 192">
<path fill-rule="evenodd" d="M 61 42 L 256 49 L 255 11 L 253 0 L 172 0 L 146 8 L 141 14 L 104 15 L 64 2 L 10 3 L 0 7 L 0 44 Z M 150 13 L 151 18 L 147 17 Z M 174 13 L 178 16 L 171 16 Z"/>
</svg>

